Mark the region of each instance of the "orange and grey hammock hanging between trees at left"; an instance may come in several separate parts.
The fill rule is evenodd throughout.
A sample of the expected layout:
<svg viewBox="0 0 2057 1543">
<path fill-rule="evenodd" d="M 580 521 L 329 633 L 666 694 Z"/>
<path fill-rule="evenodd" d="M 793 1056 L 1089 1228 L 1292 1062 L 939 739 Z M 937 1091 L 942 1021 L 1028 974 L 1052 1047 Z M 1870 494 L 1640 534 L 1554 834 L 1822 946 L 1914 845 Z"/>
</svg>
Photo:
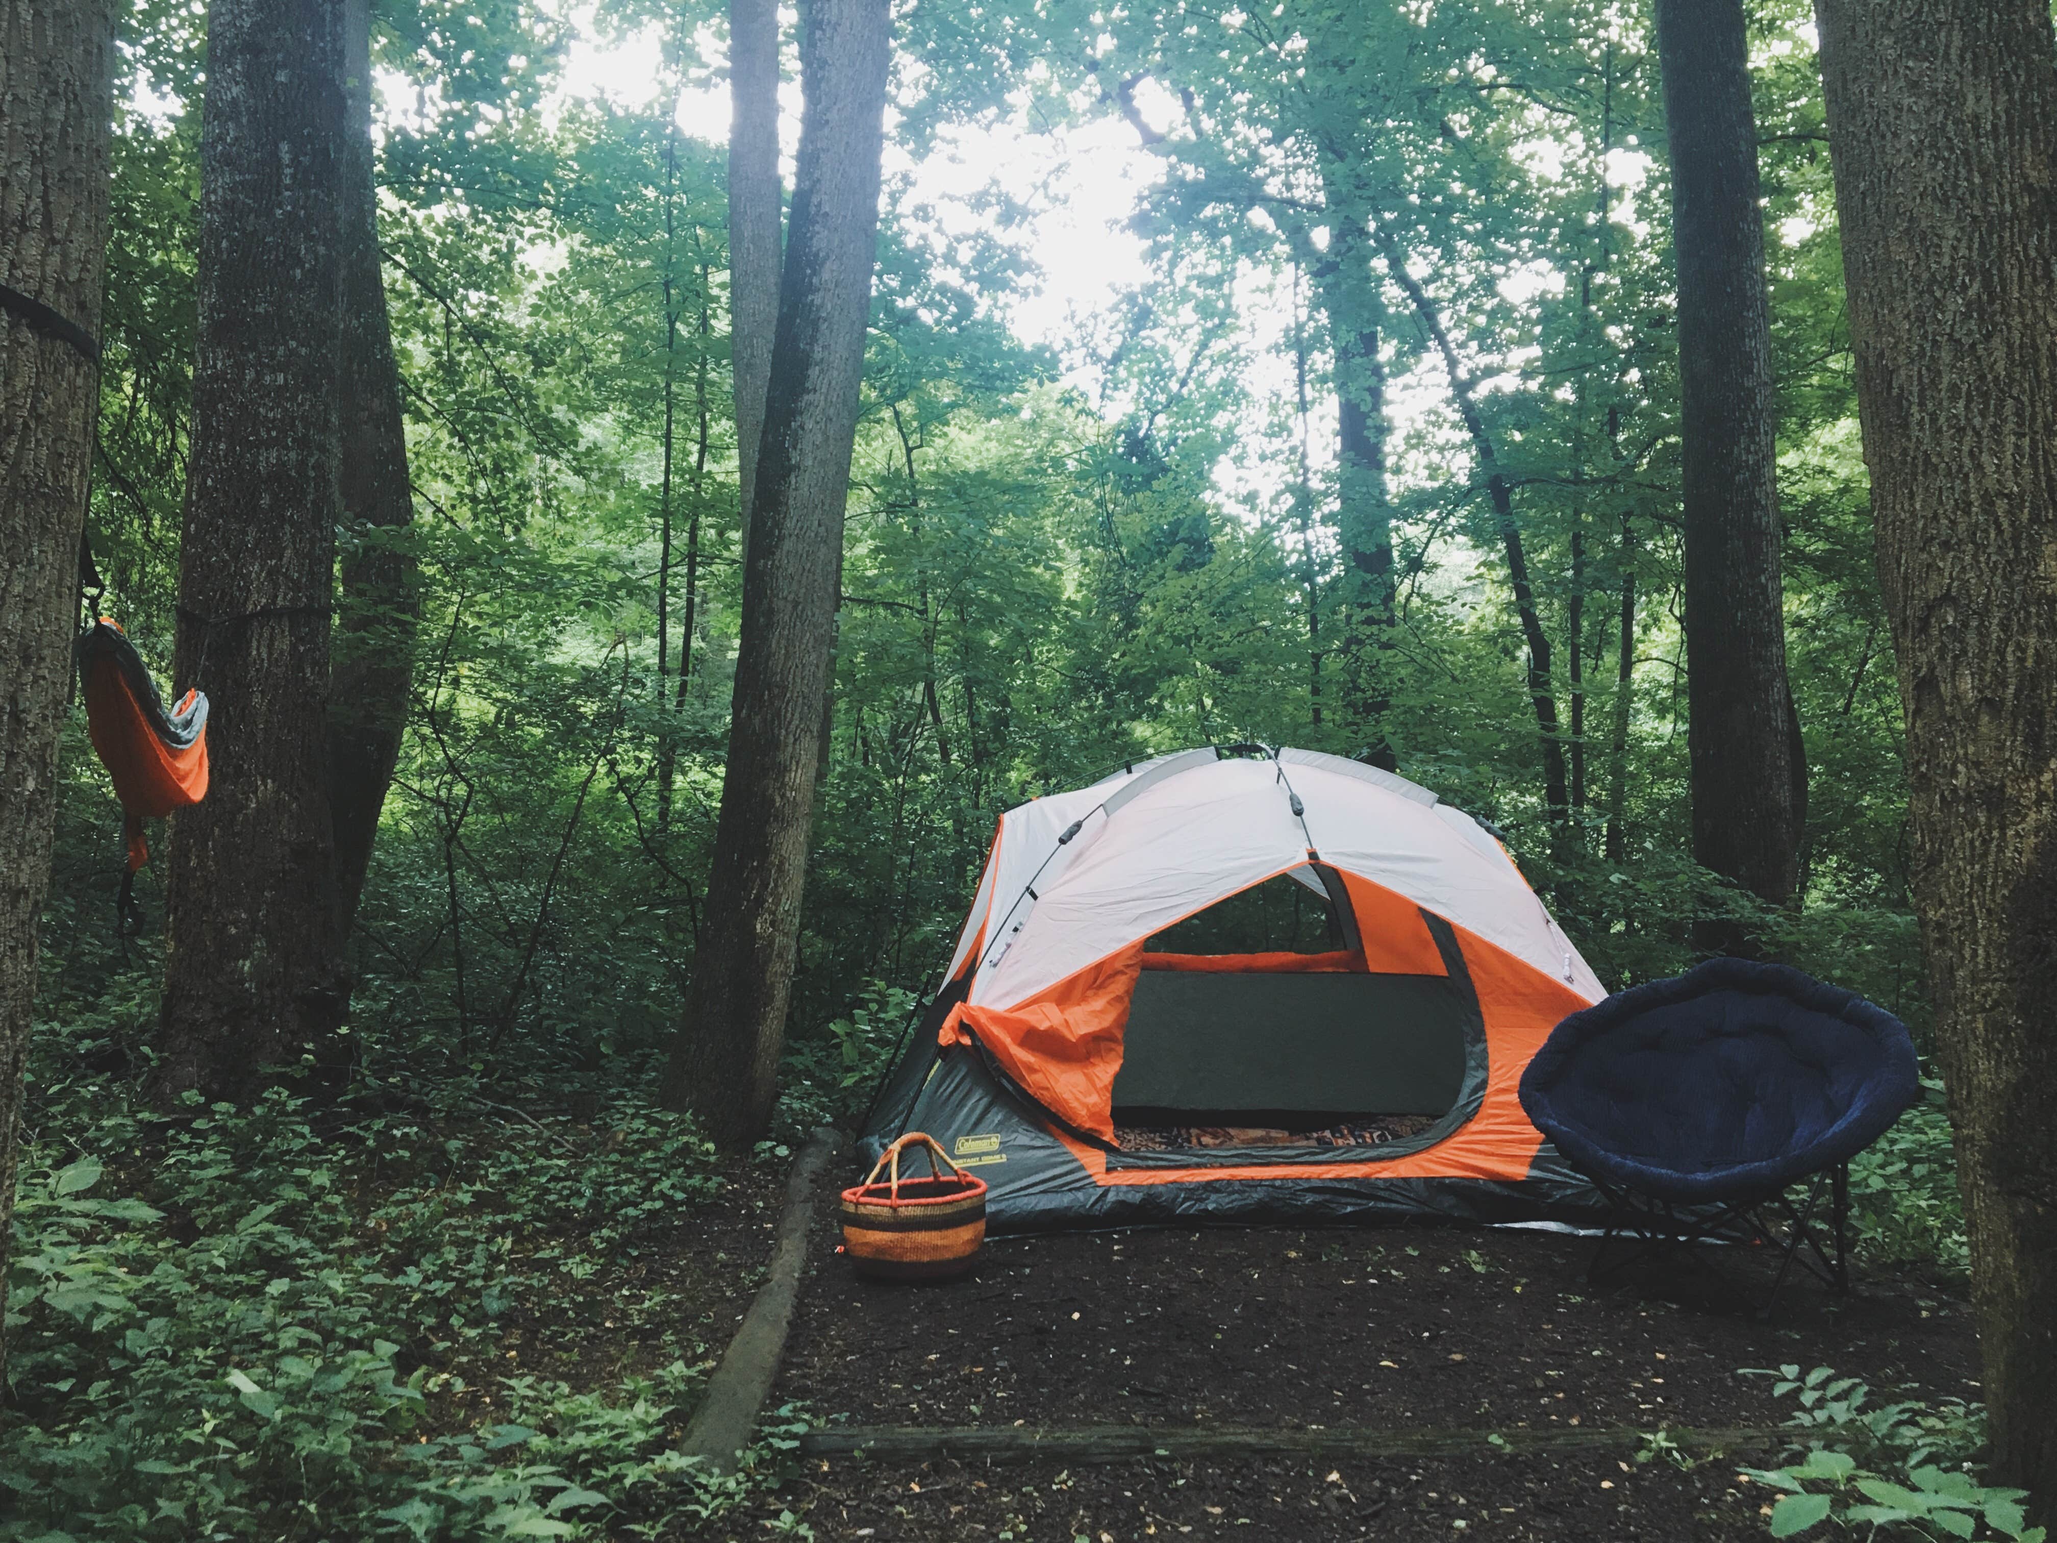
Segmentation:
<svg viewBox="0 0 2057 1543">
<path fill-rule="evenodd" d="M 208 796 L 208 699 L 197 689 L 165 712 L 142 654 L 111 617 L 78 638 L 78 673 L 86 687 L 86 728 L 121 800 L 128 839 L 128 895 L 136 870 L 150 860 L 142 823 Z"/>
</svg>

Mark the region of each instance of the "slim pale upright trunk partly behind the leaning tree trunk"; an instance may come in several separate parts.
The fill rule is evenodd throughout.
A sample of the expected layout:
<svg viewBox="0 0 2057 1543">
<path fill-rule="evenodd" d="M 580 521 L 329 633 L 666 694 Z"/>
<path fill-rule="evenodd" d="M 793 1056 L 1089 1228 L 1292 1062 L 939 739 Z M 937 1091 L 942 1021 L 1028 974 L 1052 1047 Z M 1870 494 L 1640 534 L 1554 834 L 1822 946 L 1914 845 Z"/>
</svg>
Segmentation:
<svg viewBox="0 0 2057 1543">
<path fill-rule="evenodd" d="M 749 551 L 780 321 L 778 0 L 728 0 L 728 339 L 743 475 L 736 549 Z"/>
</svg>

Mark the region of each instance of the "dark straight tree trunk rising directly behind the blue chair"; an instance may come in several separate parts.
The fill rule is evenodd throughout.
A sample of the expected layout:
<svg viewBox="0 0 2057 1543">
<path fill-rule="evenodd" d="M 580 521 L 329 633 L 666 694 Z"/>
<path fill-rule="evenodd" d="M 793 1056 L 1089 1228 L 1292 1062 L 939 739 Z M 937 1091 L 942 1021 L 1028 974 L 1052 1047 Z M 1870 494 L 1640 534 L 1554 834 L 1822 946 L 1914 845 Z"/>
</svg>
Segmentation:
<svg viewBox="0 0 2057 1543">
<path fill-rule="evenodd" d="M 1679 251 L 1693 856 L 1783 905 L 1800 872 L 1771 311 L 1742 0 L 1658 0 Z M 1703 938 L 1746 946 L 1728 930 Z"/>
</svg>

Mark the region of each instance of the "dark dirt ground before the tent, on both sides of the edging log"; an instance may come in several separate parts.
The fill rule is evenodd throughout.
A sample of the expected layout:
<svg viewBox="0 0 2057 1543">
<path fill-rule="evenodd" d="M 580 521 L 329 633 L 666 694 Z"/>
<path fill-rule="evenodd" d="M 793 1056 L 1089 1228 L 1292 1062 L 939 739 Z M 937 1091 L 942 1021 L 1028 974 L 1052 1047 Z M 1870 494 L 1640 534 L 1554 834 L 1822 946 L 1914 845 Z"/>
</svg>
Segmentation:
<svg viewBox="0 0 2057 1543">
<path fill-rule="evenodd" d="M 1586 1282 L 1590 1239 L 1506 1228 L 1210 1228 L 1008 1239 L 971 1278 L 858 1280 L 817 1208 L 771 1405 L 827 1430 L 1086 1426 L 1477 1432 L 1446 1457 L 1129 1457 L 1111 1463 L 802 1457 L 724 1533 L 825 1543 L 1199 1539 L 1763 1539 L 1767 1448 L 1691 1465 L 1518 1450 L 1530 1430 L 1777 1426 L 1742 1368 L 1864 1376 L 1874 1397 L 1979 1389 L 1964 1304 L 1864 1276 L 1790 1284 L 1759 1319 L 1705 1263 Z M 1728 1271 L 1757 1261 L 1724 1251 Z M 1761 1282 L 1759 1282 L 1761 1284 Z M 1514 1434 L 1516 1450 L 1491 1444 Z M 1500 1436 L 1508 1440 L 1506 1436 Z M 786 1520 L 790 1514 L 792 1520 Z"/>
</svg>

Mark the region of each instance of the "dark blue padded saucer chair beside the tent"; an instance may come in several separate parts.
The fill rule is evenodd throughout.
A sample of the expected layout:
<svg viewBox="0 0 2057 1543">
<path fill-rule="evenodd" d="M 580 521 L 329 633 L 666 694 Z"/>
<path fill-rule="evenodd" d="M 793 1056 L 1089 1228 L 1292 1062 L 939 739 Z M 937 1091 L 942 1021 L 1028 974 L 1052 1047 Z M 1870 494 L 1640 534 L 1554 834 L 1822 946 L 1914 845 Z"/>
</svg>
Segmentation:
<svg viewBox="0 0 2057 1543">
<path fill-rule="evenodd" d="M 1631 1257 L 1761 1243 L 1781 1253 L 1769 1311 L 1794 1261 L 1847 1290 L 1849 1158 L 1919 1090 L 1913 1041 L 1884 1008 L 1798 969 L 1711 959 L 1559 1022 L 1522 1074 L 1522 1109 L 1613 1206 L 1594 1278 L 1615 1239 L 1639 1245 Z"/>
</svg>

